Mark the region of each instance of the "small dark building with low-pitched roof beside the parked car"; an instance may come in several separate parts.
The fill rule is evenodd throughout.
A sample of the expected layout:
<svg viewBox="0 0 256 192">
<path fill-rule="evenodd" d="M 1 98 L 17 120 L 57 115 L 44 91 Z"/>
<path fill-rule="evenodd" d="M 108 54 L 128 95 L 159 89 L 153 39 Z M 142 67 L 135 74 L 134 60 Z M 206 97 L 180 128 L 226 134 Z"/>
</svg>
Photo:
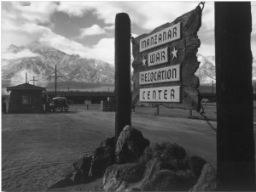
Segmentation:
<svg viewBox="0 0 256 192">
<path fill-rule="evenodd" d="M 29 83 L 7 87 L 9 97 L 9 113 L 41 113 L 44 112 L 44 90 Z"/>
</svg>

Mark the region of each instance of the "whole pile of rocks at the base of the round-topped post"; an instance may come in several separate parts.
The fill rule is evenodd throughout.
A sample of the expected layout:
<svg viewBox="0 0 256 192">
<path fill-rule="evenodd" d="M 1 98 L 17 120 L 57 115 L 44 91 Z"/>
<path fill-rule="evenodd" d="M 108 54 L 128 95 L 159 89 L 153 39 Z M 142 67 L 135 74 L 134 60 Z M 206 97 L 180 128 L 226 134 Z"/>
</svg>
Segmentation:
<svg viewBox="0 0 256 192">
<path fill-rule="evenodd" d="M 171 160 L 166 160 L 164 152 L 145 160 L 148 155 L 145 149 L 149 149 L 149 145 L 140 131 L 126 126 L 117 142 L 114 137 L 107 138 L 94 154 L 80 156 L 73 163 L 73 174 L 61 178 L 48 190 L 88 184 L 96 178 L 102 178 L 104 191 L 216 189 L 216 172 L 211 165 L 204 162 L 198 166 L 194 163 L 198 157 L 189 157 L 185 152 L 178 152 Z"/>
</svg>

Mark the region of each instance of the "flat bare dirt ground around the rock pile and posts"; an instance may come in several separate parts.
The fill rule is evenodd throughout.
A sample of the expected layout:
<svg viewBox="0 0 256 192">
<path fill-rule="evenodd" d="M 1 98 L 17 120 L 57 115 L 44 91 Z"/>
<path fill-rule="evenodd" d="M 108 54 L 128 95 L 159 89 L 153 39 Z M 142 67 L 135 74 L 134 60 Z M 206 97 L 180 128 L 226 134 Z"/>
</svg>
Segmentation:
<svg viewBox="0 0 256 192">
<path fill-rule="evenodd" d="M 216 133 L 197 112 L 188 118 L 189 110 L 160 106 L 160 116 L 154 110 L 137 107 L 131 113 L 131 126 L 151 143 L 180 144 L 216 167 Z M 207 104 L 205 111 L 216 127 L 216 106 Z M 115 113 L 103 112 L 100 104 L 90 104 L 89 110 L 84 104 L 70 104 L 68 112 L 2 114 L 2 190 L 47 189 L 73 170 L 80 155 L 93 153 L 103 139 L 113 137 L 114 120 Z"/>
</svg>

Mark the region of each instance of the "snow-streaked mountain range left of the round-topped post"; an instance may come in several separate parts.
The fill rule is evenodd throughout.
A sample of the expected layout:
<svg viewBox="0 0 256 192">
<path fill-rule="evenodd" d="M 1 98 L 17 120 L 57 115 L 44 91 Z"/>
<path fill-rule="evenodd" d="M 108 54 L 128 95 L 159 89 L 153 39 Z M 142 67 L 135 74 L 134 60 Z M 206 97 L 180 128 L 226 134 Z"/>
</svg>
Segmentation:
<svg viewBox="0 0 256 192">
<path fill-rule="evenodd" d="M 31 76 L 39 76 L 41 81 L 49 81 L 49 76 L 63 76 L 58 81 L 114 82 L 114 67 L 97 59 L 84 59 L 79 55 L 69 55 L 56 48 L 32 42 L 26 46 L 10 45 L 2 59 L 2 79 L 15 77 L 20 71 L 30 71 Z"/>
</svg>

